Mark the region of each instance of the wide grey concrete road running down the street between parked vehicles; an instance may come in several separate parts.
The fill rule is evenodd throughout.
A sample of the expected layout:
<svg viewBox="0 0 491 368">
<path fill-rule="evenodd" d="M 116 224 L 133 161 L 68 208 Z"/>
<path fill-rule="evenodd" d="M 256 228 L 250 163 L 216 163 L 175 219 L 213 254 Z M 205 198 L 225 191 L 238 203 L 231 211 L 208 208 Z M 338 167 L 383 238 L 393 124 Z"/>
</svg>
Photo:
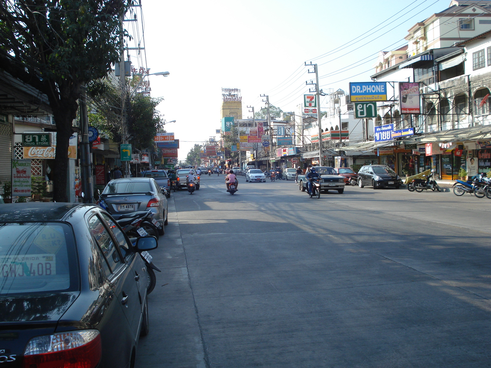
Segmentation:
<svg viewBox="0 0 491 368">
<path fill-rule="evenodd" d="M 202 177 L 172 193 L 137 368 L 491 366 L 491 201 Z"/>
</svg>

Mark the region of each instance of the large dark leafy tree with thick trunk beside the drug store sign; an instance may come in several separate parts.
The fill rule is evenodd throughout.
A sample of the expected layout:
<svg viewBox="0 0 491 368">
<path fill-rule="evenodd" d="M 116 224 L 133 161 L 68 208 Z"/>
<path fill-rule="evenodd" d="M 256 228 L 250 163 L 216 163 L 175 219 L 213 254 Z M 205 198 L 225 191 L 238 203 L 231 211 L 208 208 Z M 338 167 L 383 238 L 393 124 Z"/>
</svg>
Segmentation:
<svg viewBox="0 0 491 368">
<path fill-rule="evenodd" d="M 46 94 L 53 110 L 57 202 L 68 201 L 68 145 L 81 88 L 118 61 L 119 17 L 131 1 L 0 1 L 0 68 Z"/>
</svg>

